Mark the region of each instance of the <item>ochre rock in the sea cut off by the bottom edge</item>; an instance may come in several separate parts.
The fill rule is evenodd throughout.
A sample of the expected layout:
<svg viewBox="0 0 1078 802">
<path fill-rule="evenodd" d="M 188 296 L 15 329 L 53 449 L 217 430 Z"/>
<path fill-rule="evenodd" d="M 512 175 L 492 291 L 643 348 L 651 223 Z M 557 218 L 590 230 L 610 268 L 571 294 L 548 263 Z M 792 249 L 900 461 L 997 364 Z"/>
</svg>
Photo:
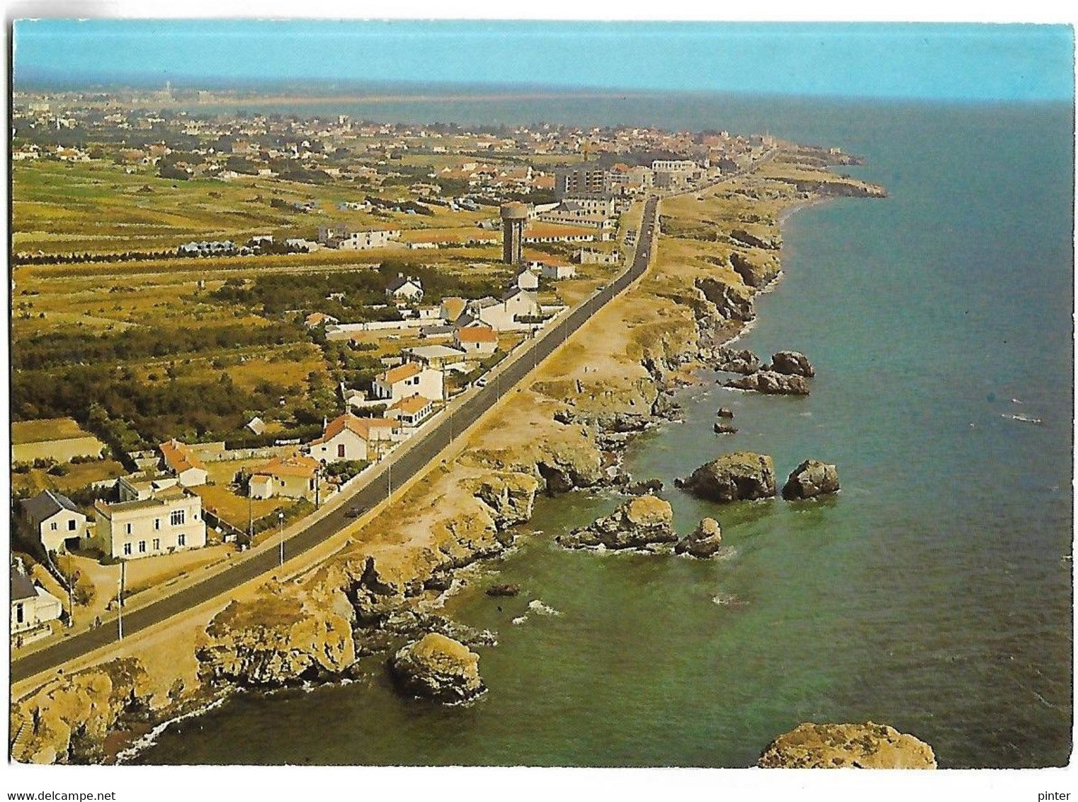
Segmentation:
<svg viewBox="0 0 1078 802">
<path fill-rule="evenodd" d="M 763 750 L 761 769 L 935 769 L 925 742 L 886 724 L 805 723 Z"/>
</svg>

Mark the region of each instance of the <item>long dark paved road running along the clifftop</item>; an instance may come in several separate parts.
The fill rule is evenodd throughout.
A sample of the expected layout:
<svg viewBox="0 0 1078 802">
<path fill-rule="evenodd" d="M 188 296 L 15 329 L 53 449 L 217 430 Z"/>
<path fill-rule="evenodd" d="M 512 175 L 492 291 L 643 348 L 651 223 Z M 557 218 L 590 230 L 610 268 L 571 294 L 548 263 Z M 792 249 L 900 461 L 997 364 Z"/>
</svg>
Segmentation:
<svg viewBox="0 0 1078 802">
<path fill-rule="evenodd" d="M 285 543 L 286 557 L 294 557 L 343 529 L 350 523 L 345 517 L 349 508 L 356 506 L 371 508 L 385 499 L 390 492 L 390 481 L 393 486 L 399 487 L 412 476 L 420 473 L 452 440 L 459 437 L 461 431 L 474 423 L 501 396 L 512 391 L 516 383 L 524 378 L 539 361 L 547 358 L 572 332 L 583 326 L 592 315 L 644 275 L 651 259 L 651 244 L 658 221 L 658 205 L 659 198 L 655 196 L 649 197 L 645 204 L 636 253 L 632 264 L 617 279 L 597 291 L 584 304 L 563 318 L 545 336 L 534 343 L 530 349 L 534 352 L 531 359 L 523 356 L 508 365 L 496 367 L 488 374 L 486 387 L 480 389 L 452 413 L 441 413 L 439 417 L 444 419 L 438 426 L 419 435 L 419 440 L 409 451 L 397 457 L 392 455 L 387 457 L 387 461 L 391 465 L 388 471 L 360 487 L 348 502 L 288 538 Z M 204 602 L 238 587 L 244 582 L 273 571 L 278 567 L 278 564 L 277 550 L 267 550 L 237 563 L 232 568 L 208 577 L 197 584 L 177 591 L 171 596 L 125 613 L 124 634 L 132 635 L 171 616 L 190 610 Z M 111 625 L 80 633 L 15 661 L 11 666 L 11 681 L 18 682 L 40 672 L 55 668 L 114 640 L 116 640 L 116 630 Z"/>
</svg>

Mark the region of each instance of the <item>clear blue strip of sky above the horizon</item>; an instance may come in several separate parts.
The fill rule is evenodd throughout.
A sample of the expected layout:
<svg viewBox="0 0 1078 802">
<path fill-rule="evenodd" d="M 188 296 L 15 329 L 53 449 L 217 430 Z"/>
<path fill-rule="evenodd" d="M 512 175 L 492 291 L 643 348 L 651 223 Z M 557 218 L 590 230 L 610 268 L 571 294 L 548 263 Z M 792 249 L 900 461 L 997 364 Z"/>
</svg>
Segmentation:
<svg viewBox="0 0 1078 802">
<path fill-rule="evenodd" d="M 406 81 L 958 100 L 1074 97 L 1068 26 L 37 20 L 27 79 Z"/>
</svg>

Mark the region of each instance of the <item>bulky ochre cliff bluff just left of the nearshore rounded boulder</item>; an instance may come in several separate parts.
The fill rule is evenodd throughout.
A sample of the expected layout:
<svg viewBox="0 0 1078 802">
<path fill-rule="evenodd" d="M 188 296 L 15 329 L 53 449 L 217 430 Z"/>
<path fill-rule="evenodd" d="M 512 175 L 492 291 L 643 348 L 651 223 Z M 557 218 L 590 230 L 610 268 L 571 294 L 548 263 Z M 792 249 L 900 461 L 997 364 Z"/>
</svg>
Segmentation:
<svg viewBox="0 0 1078 802">
<path fill-rule="evenodd" d="M 289 591 L 273 585 L 255 604 L 234 600 L 215 616 L 196 651 L 201 678 L 279 688 L 342 675 L 356 660 L 348 598 Z"/>
</svg>

